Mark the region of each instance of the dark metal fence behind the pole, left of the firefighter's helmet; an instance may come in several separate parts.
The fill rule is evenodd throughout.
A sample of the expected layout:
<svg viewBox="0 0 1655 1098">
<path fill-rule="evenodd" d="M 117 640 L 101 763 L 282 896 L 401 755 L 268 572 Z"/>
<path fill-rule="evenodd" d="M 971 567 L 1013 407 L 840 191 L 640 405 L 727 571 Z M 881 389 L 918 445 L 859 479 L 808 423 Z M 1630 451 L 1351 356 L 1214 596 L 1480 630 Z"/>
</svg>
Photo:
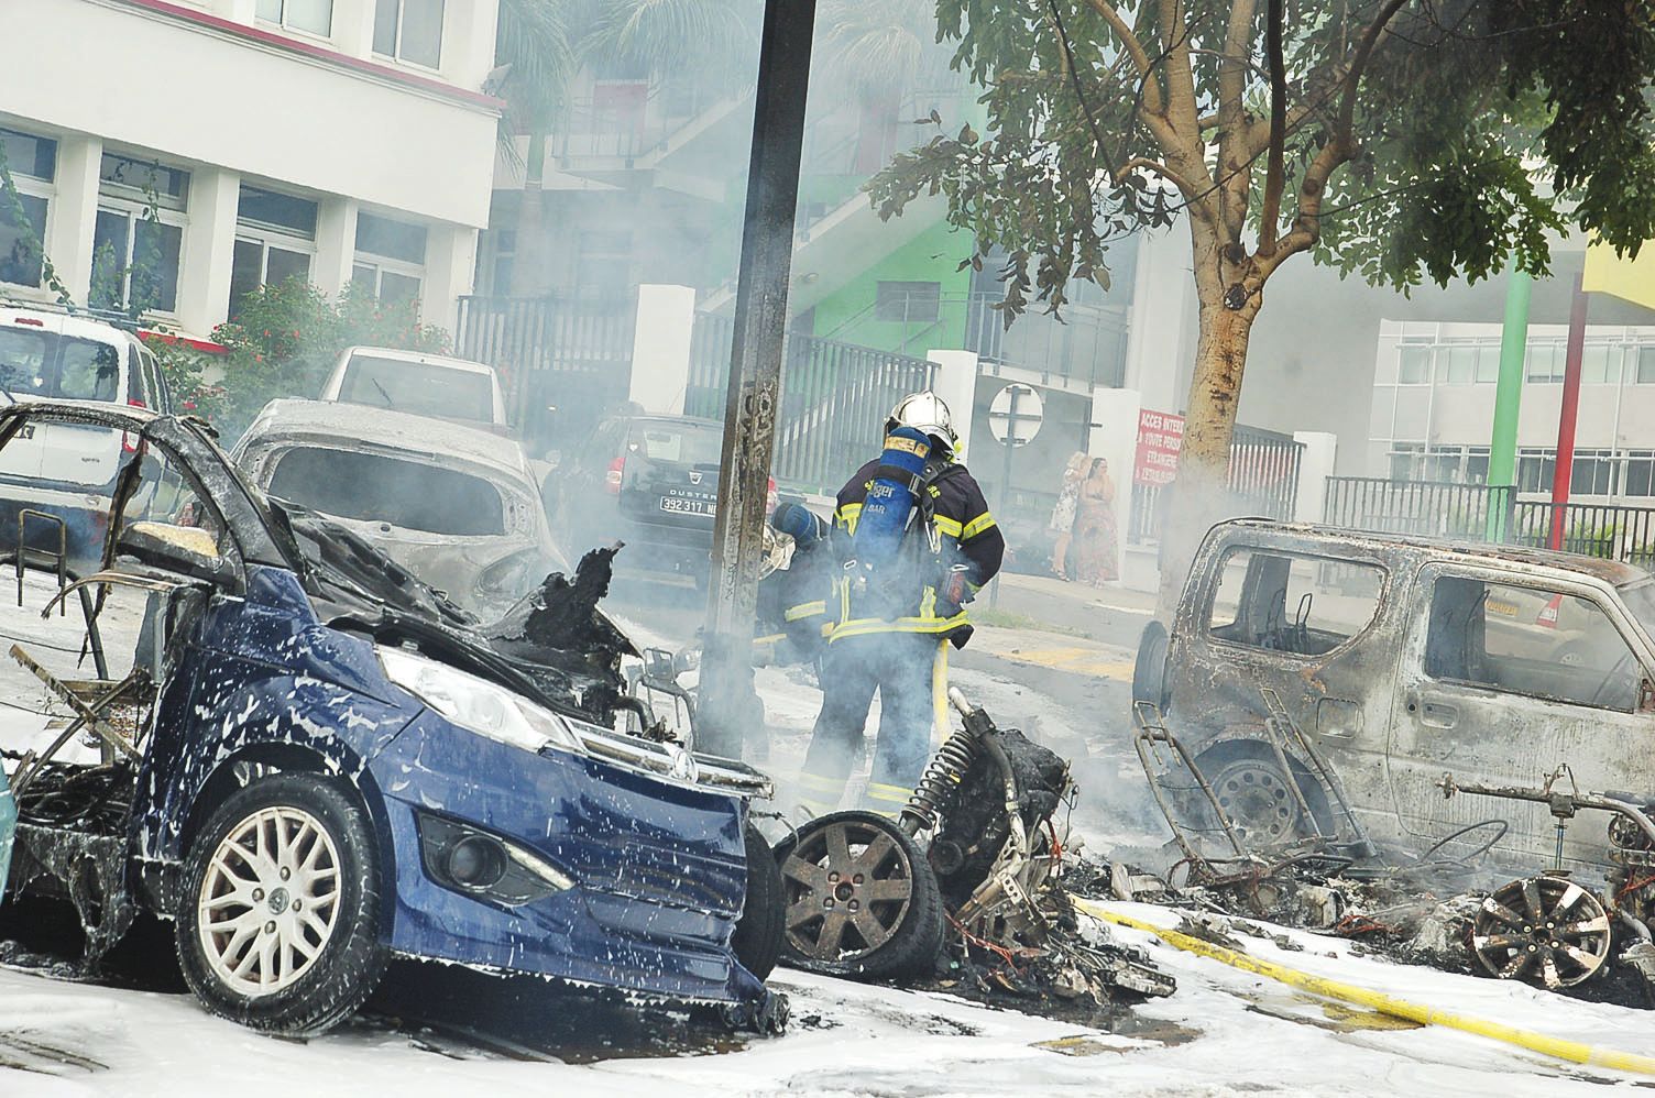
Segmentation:
<svg viewBox="0 0 1655 1098">
<path fill-rule="evenodd" d="M 723 417 L 730 379 L 728 317 L 700 313 L 690 337 L 688 415 Z M 902 394 L 930 389 L 935 365 L 874 347 L 788 336 L 781 359 L 775 476 L 804 491 L 836 491 L 869 455 Z"/>
</svg>

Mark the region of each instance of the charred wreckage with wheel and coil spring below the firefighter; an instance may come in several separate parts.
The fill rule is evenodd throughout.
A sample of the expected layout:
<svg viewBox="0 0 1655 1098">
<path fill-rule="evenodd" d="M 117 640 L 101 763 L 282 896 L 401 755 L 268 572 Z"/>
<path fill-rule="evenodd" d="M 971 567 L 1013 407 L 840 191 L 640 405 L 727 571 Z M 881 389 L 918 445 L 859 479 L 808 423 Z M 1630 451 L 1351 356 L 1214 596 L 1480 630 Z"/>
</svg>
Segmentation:
<svg viewBox="0 0 1655 1098">
<path fill-rule="evenodd" d="M 948 699 L 963 728 L 897 820 L 836 812 L 778 845 L 784 961 L 1059 1012 L 1170 995 L 1170 976 L 1069 900 L 1081 863 L 1056 819 L 1076 795 L 1069 764 L 958 690 Z"/>
</svg>

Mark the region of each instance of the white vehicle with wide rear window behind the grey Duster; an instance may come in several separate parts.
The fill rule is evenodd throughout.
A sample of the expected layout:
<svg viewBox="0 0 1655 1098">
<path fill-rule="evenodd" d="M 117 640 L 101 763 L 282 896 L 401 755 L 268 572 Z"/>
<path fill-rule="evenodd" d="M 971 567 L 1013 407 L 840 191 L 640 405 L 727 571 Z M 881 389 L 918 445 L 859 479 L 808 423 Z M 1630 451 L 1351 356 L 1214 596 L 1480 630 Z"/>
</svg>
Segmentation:
<svg viewBox="0 0 1655 1098">
<path fill-rule="evenodd" d="M 482 423 L 505 432 L 506 402 L 492 365 L 392 347 L 346 347 L 323 400 Z"/>
</svg>

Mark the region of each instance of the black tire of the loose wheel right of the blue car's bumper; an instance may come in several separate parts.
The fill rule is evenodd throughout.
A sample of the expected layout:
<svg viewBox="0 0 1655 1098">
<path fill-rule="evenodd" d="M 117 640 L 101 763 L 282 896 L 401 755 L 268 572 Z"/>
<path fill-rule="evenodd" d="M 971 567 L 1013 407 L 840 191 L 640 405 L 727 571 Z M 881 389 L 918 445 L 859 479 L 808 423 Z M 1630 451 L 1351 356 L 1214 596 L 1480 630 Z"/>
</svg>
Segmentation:
<svg viewBox="0 0 1655 1098">
<path fill-rule="evenodd" d="M 841 857 L 832 853 L 836 833 L 846 840 L 841 855 L 846 865 L 837 865 Z M 874 860 L 872 871 L 864 873 L 864 881 L 851 880 L 856 876 L 856 863 L 867 858 L 875 842 L 882 853 Z M 849 857 L 849 850 L 857 845 L 862 847 L 861 853 Z M 831 812 L 811 820 L 778 847 L 776 862 L 781 865 L 788 905 L 781 946 L 781 959 L 788 967 L 854 979 L 935 969 L 943 938 L 942 890 L 925 852 L 895 822 L 874 812 Z M 856 931 L 861 948 L 844 948 L 841 931 L 839 948 L 832 949 L 836 956 L 826 956 L 831 944 L 823 941 L 826 913 L 847 906 L 857 891 L 875 881 L 902 881 L 905 886 L 892 888 L 900 896 L 869 901 L 867 913 L 877 929 L 867 934 Z M 829 906 L 828 900 L 834 903 Z M 824 914 L 813 909 L 818 906 L 814 901 L 821 901 Z"/>
</svg>

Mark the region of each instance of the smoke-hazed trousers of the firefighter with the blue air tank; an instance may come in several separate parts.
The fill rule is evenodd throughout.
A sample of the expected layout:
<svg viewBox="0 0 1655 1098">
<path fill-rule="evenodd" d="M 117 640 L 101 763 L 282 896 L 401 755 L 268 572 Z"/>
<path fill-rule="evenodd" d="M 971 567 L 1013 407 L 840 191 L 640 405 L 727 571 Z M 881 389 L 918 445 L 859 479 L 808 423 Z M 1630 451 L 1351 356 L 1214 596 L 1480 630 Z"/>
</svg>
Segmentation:
<svg viewBox="0 0 1655 1098">
<path fill-rule="evenodd" d="M 862 746 L 879 691 L 879 741 L 864 807 L 895 815 L 909 802 L 932 752 L 938 699 L 947 690 L 948 642 L 925 633 L 871 633 L 828 645 L 823 709 L 799 779 L 804 807 L 832 812 Z"/>
</svg>

